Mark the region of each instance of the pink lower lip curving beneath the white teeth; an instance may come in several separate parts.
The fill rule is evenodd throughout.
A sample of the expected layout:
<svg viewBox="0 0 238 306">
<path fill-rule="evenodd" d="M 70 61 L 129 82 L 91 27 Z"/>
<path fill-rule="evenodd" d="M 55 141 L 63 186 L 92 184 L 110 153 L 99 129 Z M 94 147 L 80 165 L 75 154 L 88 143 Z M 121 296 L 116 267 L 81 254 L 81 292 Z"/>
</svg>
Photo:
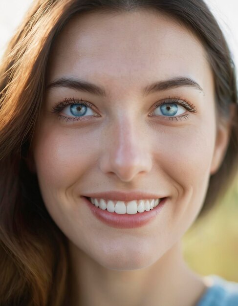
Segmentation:
<svg viewBox="0 0 238 306">
<path fill-rule="evenodd" d="M 155 208 L 134 215 L 109 213 L 107 210 L 103 210 L 92 204 L 87 197 L 82 197 L 82 199 L 87 203 L 92 214 L 105 224 L 116 228 L 137 228 L 148 224 L 160 213 L 165 205 L 167 197 L 161 199 L 160 203 Z"/>
</svg>

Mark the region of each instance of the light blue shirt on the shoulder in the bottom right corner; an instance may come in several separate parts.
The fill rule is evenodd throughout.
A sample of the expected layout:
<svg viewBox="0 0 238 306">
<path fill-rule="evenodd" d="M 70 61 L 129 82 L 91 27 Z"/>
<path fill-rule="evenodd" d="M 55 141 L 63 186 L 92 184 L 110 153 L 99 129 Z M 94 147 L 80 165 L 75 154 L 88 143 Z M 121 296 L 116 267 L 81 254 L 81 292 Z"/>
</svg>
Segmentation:
<svg viewBox="0 0 238 306">
<path fill-rule="evenodd" d="M 206 277 L 211 282 L 196 306 L 238 306 L 238 283 L 217 275 Z"/>
</svg>

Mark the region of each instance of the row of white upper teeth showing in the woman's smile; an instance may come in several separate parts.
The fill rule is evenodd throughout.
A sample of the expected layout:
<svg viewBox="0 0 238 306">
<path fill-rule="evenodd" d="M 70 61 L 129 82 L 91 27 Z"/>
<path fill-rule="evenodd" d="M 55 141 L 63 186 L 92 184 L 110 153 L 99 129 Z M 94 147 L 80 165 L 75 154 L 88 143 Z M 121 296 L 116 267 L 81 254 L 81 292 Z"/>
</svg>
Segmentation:
<svg viewBox="0 0 238 306">
<path fill-rule="evenodd" d="M 127 202 L 124 201 L 112 201 L 97 198 L 90 198 L 91 203 L 95 206 L 101 208 L 102 210 L 108 210 L 109 213 L 117 213 L 120 215 L 129 214 L 134 215 L 138 213 L 143 213 L 145 210 L 150 211 L 155 208 L 160 199 L 147 199 L 147 200 L 132 200 Z"/>
</svg>

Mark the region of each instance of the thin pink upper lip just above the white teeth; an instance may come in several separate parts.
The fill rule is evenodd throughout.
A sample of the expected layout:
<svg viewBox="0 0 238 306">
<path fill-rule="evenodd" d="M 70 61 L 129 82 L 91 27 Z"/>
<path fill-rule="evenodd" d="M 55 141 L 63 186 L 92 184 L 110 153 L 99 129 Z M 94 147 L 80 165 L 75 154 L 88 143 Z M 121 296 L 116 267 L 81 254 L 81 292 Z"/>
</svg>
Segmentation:
<svg viewBox="0 0 238 306">
<path fill-rule="evenodd" d="M 84 195 L 84 197 L 93 197 L 93 198 L 103 198 L 107 200 L 114 201 L 132 201 L 132 200 L 140 200 L 140 199 L 157 199 L 162 198 L 158 194 L 153 193 L 144 193 L 144 192 L 120 192 L 120 191 L 108 191 L 108 192 L 99 192 L 99 193 L 91 193 L 90 195 Z"/>
</svg>

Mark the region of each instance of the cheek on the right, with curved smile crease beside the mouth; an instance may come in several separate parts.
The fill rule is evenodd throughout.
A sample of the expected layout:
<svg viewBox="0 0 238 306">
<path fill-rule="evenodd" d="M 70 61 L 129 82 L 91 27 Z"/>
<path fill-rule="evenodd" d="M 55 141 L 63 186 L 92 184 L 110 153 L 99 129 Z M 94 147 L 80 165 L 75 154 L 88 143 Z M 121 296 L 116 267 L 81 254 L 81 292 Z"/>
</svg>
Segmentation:
<svg viewBox="0 0 238 306">
<path fill-rule="evenodd" d="M 203 123 L 186 129 L 167 129 L 154 142 L 155 165 L 161 183 L 167 182 L 166 187 L 172 190 L 173 222 L 182 218 L 192 221 L 206 195 L 216 126 L 214 122 Z"/>
</svg>

